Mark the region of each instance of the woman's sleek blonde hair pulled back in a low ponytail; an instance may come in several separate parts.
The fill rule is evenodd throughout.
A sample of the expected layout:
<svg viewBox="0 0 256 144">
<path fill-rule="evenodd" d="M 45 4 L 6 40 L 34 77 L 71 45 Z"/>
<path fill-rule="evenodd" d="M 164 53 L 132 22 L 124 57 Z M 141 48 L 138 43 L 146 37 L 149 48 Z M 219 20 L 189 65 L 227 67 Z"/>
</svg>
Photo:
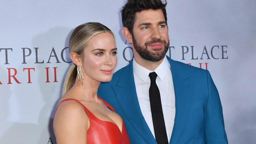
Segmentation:
<svg viewBox="0 0 256 144">
<path fill-rule="evenodd" d="M 109 32 L 113 36 L 113 32 L 106 26 L 97 22 L 88 22 L 76 27 L 69 39 L 69 52 L 75 52 L 77 55 L 83 57 L 84 48 L 87 46 L 88 41 L 99 33 Z M 73 63 L 66 75 L 62 95 L 64 95 L 75 84 L 77 77 L 76 65 Z"/>
</svg>

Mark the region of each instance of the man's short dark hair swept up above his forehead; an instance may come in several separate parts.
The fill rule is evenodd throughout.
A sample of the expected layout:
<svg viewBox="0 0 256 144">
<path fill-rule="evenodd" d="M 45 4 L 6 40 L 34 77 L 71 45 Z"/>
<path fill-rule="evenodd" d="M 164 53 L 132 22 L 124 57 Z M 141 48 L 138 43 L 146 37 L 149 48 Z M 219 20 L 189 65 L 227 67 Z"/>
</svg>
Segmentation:
<svg viewBox="0 0 256 144">
<path fill-rule="evenodd" d="M 164 14 L 164 18 L 167 24 L 166 16 L 166 0 L 127 0 L 127 3 L 121 10 L 122 23 L 124 27 L 127 27 L 129 32 L 133 34 L 133 24 L 135 22 L 136 12 L 141 12 L 143 10 L 158 10 L 161 9 Z"/>
</svg>

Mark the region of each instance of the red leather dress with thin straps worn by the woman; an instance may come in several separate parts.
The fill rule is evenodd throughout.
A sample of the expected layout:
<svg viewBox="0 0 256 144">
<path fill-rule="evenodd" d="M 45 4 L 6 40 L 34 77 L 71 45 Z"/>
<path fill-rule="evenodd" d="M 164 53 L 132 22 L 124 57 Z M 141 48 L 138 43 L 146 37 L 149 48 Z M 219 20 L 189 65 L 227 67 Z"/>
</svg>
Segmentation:
<svg viewBox="0 0 256 144">
<path fill-rule="evenodd" d="M 103 121 L 98 119 L 92 112 L 90 112 L 81 102 L 76 99 L 68 98 L 62 100 L 60 103 L 68 100 L 74 100 L 79 103 L 84 108 L 89 117 L 90 127 L 87 131 L 87 144 L 130 144 L 130 140 L 123 119 L 121 132 L 116 124 L 110 121 Z M 107 105 L 112 111 L 115 112 L 112 106 L 110 106 L 103 99 L 101 100 L 104 102 L 105 105 Z"/>
</svg>

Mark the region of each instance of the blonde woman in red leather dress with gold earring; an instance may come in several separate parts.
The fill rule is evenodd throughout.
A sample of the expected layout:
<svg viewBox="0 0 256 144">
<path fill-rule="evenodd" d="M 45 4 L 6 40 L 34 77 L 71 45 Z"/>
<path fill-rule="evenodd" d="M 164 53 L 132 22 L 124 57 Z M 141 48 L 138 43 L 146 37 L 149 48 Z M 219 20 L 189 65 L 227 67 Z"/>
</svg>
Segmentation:
<svg viewBox="0 0 256 144">
<path fill-rule="evenodd" d="M 97 97 L 100 82 L 111 80 L 117 64 L 112 31 L 100 23 L 85 23 L 69 40 L 70 67 L 54 116 L 58 144 L 130 143 L 122 118 Z"/>
</svg>

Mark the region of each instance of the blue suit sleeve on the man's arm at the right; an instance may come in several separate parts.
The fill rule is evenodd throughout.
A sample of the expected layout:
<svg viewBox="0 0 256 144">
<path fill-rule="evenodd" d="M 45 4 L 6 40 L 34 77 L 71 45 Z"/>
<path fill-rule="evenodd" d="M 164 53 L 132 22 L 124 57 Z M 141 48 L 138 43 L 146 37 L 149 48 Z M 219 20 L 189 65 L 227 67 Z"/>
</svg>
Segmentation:
<svg viewBox="0 0 256 144">
<path fill-rule="evenodd" d="M 207 144 L 226 144 L 228 143 L 227 135 L 224 127 L 222 106 L 218 90 L 213 83 L 212 77 L 208 70 L 207 85 L 208 85 L 208 100 L 205 116 L 205 139 Z"/>
</svg>

